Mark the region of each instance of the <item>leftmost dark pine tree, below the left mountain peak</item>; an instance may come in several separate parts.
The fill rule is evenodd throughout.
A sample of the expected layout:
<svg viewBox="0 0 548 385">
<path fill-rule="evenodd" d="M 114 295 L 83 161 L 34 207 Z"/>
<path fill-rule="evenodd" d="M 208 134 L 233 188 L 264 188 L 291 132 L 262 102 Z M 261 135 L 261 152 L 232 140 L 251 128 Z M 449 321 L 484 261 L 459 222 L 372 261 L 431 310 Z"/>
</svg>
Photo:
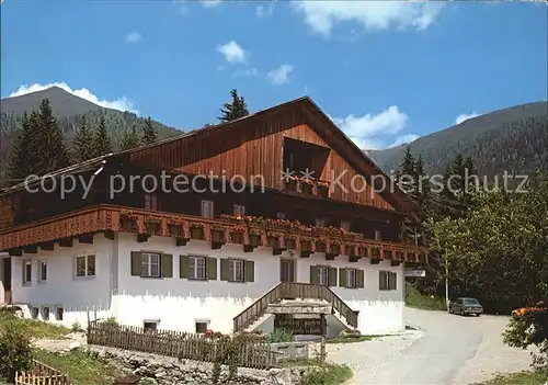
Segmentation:
<svg viewBox="0 0 548 385">
<path fill-rule="evenodd" d="M 33 111 L 32 116 L 25 112 L 19 122 L 18 134 L 10 150 L 7 172 L 9 185 L 21 183 L 26 177 L 39 173 L 36 132 L 32 125 L 32 121 L 36 120 L 37 113 Z"/>
</svg>

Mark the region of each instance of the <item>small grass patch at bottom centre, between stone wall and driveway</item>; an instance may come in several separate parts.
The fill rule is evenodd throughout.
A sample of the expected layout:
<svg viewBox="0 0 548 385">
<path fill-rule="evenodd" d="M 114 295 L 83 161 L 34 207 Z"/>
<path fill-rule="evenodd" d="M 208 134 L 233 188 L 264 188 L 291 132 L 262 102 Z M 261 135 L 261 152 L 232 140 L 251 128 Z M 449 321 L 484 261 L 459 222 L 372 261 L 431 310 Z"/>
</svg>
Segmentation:
<svg viewBox="0 0 548 385">
<path fill-rule="evenodd" d="M 283 367 L 313 366 L 305 374 L 299 385 L 340 385 L 352 378 L 352 370 L 346 365 L 338 365 L 318 360 L 284 361 Z"/>
</svg>

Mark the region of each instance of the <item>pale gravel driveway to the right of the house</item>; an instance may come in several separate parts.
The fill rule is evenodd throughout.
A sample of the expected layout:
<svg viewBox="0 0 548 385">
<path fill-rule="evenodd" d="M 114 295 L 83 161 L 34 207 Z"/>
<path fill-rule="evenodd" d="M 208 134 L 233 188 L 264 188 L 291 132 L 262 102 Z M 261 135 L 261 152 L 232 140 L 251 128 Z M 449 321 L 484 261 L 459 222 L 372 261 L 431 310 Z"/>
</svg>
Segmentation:
<svg viewBox="0 0 548 385">
<path fill-rule="evenodd" d="M 402 336 L 328 344 L 328 359 L 354 371 L 349 384 L 463 385 L 492 378 L 496 372 L 527 370 L 529 351 L 502 342 L 507 317 L 460 317 L 406 308 Z"/>
</svg>

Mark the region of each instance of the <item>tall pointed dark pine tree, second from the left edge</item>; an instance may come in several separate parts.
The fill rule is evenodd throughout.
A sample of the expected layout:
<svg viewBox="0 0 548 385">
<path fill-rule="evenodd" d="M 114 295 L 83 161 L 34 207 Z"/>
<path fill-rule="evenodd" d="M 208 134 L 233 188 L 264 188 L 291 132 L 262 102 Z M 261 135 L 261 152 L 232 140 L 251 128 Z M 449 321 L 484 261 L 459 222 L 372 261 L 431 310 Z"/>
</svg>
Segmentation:
<svg viewBox="0 0 548 385">
<path fill-rule="evenodd" d="M 31 120 L 33 121 L 33 120 Z M 42 173 L 48 173 L 70 165 L 70 157 L 64 141 L 62 131 L 57 125 L 49 100 L 42 100 L 38 114 L 33 125 L 37 125 L 38 167 Z"/>
</svg>

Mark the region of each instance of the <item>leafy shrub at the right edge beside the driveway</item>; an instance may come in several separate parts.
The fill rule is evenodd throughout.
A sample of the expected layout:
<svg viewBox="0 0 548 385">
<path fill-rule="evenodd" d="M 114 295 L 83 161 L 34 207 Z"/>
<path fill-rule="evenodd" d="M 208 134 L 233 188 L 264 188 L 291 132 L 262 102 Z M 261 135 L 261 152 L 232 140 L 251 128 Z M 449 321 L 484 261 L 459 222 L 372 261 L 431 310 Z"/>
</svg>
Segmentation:
<svg viewBox="0 0 548 385">
<path fill-rule="evenodd" d="M 548 307 L 544 303 L 512 312 L 503 337 L 504 343 L 514 348 L 537 347 L 540 354 L 533 353 L 532 366 L 548 372 Z"/>
</svg>

